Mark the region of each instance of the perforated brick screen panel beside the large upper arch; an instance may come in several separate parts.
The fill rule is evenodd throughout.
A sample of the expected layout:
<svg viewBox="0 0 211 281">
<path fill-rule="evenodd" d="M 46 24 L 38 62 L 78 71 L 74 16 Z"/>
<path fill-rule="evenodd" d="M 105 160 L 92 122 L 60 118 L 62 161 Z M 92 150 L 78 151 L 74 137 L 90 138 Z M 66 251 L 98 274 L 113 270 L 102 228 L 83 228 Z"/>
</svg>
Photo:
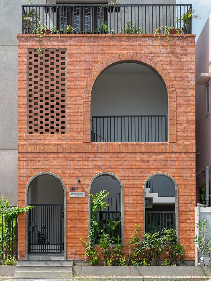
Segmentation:
<svg viewBox="0 0 211 281">
<path fill-rule="evenodd" d="M 27 50 L 29 134 L 65 134 L 66 49 Z"/>
</svg>

